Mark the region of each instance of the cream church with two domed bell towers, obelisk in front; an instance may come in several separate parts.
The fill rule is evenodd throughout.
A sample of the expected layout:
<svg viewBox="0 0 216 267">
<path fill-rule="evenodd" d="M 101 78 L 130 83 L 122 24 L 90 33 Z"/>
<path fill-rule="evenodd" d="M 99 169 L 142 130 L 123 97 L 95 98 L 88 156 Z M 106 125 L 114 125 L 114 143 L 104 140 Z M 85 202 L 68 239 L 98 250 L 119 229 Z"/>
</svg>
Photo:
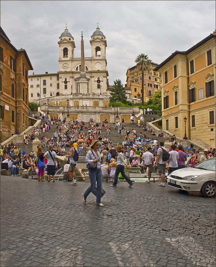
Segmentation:
<svg viewBox="0 0 216 267">
<path fill-rule="evenodd" d="M 81 57 L 77 58 L 74 57 L 75 41 L 68 29 L 59 37 L 59 95 L 71 91 L 73 94 L 107 93 L 107 41 L 98 27 L 91 35 L 90 44 L 91 57 L 85 57 L 81 35 Z"/>
</svg>

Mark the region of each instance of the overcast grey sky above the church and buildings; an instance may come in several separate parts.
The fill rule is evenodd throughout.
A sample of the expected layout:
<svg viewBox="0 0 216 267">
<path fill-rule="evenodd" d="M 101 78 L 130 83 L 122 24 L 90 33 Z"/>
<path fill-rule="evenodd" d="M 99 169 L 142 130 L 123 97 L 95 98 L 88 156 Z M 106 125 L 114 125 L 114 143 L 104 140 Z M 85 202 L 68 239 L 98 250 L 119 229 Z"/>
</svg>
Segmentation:
<svg viewBox="0 0 216 267">
<path fill-rule="evenodd" d="M 1 27 L 17 48 L 24 48 L 35 74 L 59 71 L 59 36 L 65 24 L 80 57 L 91 57 L 91 35 L 106 36 L 109 84 L 120 79 L 144 53 L 161 63 L 185 51 L 215 30 L 215 1 L 1 1 Z"/>
</svg>

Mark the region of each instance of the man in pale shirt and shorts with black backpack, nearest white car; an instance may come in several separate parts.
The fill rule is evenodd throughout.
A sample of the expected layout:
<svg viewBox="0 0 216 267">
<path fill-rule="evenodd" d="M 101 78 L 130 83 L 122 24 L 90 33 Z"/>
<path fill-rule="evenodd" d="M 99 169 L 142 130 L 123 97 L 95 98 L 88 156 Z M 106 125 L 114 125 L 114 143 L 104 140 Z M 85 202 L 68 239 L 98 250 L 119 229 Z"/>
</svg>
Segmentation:
<svg viewBox="0 0 216 267">
<path fill-rule="evenodd" d="M 157 157 L 154 163 L 154 166 L 157 166 L 157 162 L 158 162 L 158 173 L 161 177 L 161 184 L 159 184 L 159 186 L 165 187 L 165 172 L 166 172 L 166 161 L 163 161 L 162 157 L 163 157 L 163 151 L 167 151 L 167 149 L 164 147 L 164 142 L 160 142 L 160 148 L 158 148 L 158 153 L 157 153 Z"/>
</svg>

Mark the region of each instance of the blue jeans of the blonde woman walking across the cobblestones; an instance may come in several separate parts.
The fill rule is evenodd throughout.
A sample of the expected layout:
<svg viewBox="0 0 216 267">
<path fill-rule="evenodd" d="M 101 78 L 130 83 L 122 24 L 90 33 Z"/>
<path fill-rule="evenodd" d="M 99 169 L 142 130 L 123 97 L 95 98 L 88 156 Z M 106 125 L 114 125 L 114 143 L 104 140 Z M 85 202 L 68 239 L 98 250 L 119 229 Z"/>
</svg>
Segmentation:
<svg viewBox="0 0 216 267">
<path fill-rule="evenodd" d="M 91 193 L 91 191 L 94 190 L 96 186 L 97 181 L 97 197 L 96 202 L 101 203 L 101 189 L 102 189 L 102 172 L 101 169 L 95 169 L 95 170 L 89 170 L 89 178 L 91 185 L 84 193 L 84 198 L 87 198 L 87 196 Z"/>
</svg>

